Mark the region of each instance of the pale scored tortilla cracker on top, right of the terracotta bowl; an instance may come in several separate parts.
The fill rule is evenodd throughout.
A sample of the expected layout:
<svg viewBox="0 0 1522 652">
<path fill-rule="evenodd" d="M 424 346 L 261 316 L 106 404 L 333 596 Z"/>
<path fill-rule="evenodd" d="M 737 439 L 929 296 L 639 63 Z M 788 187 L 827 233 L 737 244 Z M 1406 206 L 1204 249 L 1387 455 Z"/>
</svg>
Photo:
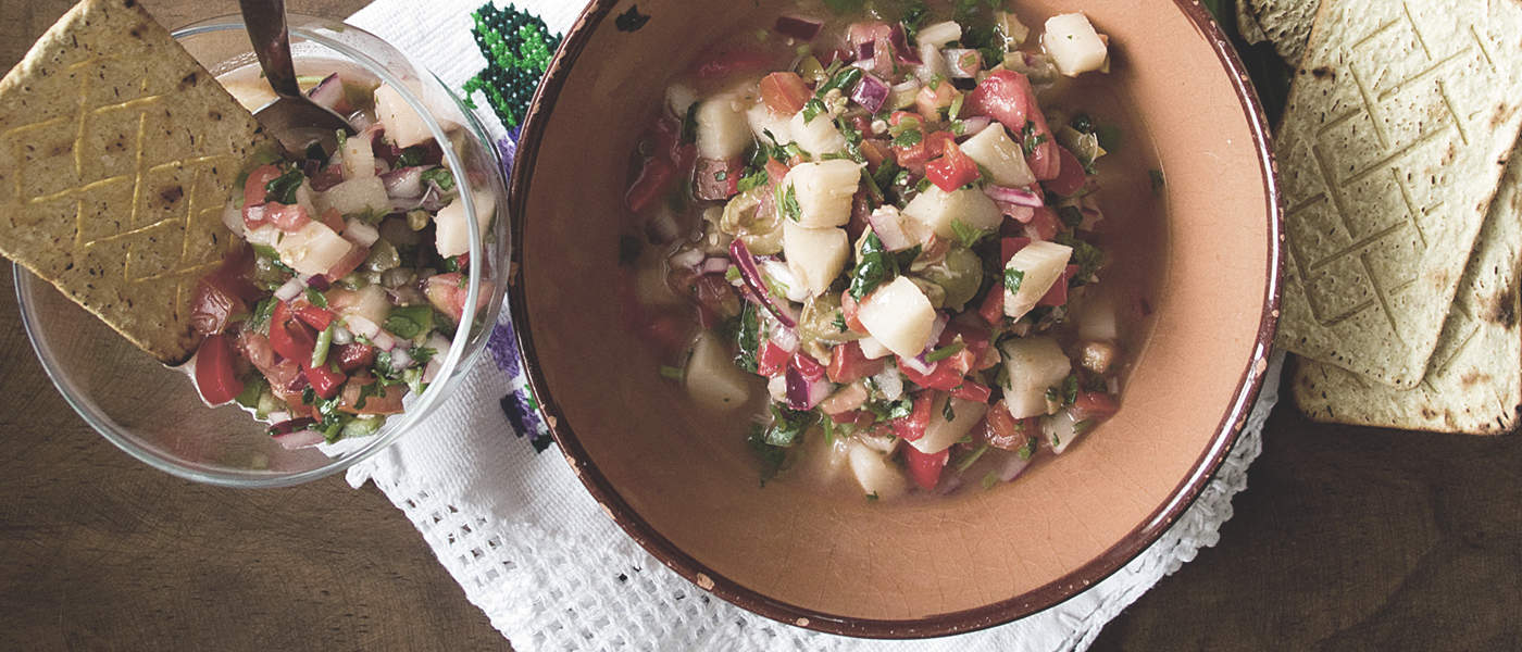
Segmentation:
<svg viewBox="0 0 1522 652">
<path fill-rule="evenodd" d="M 1278 343 L 1412 388 L 1522 125 L 1516 0 L 1327 0 L 1277 138 Z"/>
</svg>

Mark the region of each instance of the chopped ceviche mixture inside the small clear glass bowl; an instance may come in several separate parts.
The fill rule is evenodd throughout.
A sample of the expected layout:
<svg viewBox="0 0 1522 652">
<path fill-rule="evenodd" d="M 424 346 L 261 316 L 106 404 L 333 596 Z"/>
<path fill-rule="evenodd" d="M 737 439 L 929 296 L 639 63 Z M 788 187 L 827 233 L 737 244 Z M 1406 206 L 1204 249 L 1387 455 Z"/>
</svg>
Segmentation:
<svg viewBox="0 0 1522 652">
<path fill-rule="evenodd" d="M 336 73 L 314 82 L 307 94 L 358 134 L 250 161 L 224 213 L 242 242 L 192 304 L 201 397 L 269 421 L 286 448 L 374 433 L 422 394 L 472 264 L 455 173 L 400 94 Z M 484 233 L 495 202 L 475 204 Z M 479 304 L 490 295 L 482 283 Z"/>
</svg>

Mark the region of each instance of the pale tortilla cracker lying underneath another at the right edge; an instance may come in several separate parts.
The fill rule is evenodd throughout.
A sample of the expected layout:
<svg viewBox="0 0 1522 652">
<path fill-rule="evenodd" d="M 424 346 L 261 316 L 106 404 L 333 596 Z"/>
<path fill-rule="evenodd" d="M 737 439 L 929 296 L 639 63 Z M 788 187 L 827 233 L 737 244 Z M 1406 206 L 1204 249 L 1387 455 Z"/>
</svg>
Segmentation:
<svg viewBox="0 0 1522 652">
<path fill-rule="evenodd" d="M 1323 423 L 1473 435 L 1510 432 L 1522 415 L 1519 267 L 1522 158 L 1513 158 L 1422 383 L 1394 389 L 1332 365 L 1301 360 L 1294 381 L 1300 410 Z"/>
</svg>

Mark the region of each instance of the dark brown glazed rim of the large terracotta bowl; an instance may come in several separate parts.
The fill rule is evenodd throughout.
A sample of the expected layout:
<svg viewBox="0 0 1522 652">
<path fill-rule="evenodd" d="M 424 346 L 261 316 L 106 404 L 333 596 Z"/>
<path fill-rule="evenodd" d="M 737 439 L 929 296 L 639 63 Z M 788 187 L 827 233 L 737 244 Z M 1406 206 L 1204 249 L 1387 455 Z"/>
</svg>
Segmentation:
<svg viewBox="0 0 1522 652">
<path fill-rule="evenodd" d="M 566 33 L 565 41 L 556 52 L 554 59 L 549 62 L 549 70 L 545 73 L 539 90 L 534 93 L 533 103 L 528 108 L 517 144 L 517 161 L 533 160 L 539 154 L 539 147 L 543 140 L 543 116 L 554 109 L 556 99 L 560 94 L 560 88 L 566 82 L 571 65 L 577 58 L 580 58 L 581 50 L 586 49 L 592 33 L 597 32 L 598 24 L 607 18 L 618 2 L 619 0 L 592 0 L 571 26 L 571 30 Z M 513 319 L 516 322 L 514 333 L 517 336 L 517 347 L 525 360 L 524 369 L 528 377 L 528 386 L 534 392 L 540 416 L 543 416 L 545 423 L 549 426 L 549 433 L 554 436 L 556 444 L 560 445 L 560 451 L 565 454 L 566 462 L 571 464 L 575 476 L 583 485 L 586 485 L 586 489 L 592 492 L 592 497 L 609 512 L 613 521 L 618 523 L 618 526 L 622 527 L 624 532 L 629 533 L 629 536 L 632 536 L 641 547 L 654 555 L 656 559 L 661 559 L 662 564 L 677 571 L 682 578 L 686 578 L 699 588 L 714 593 L 731 603 L 782 623 L 816 629 L 820 632 L 866 638 L 928 638 L 1003 625 L 1058 605 L 1082 593 L 1084 588 L 1099 584 L 1152 546 L 1152 543 L 1157 541 L 1190 505 L 1193 505 L 1195 498 L 1199 497 L 1205 483 L 1208 483 L 1216 470 L 1221 468 L 1227 453 L 1231 451 L 1237 436 L 1242 433 L 1242 427 L 1247 424 L 1247 418 L 1257 398 L 1257 392 L 1262 389 L 1263 377 L 1268 369 L 1268 359 L 1274 345 L 1274 331 L 1278 324 L 1280 280 L 1283 274 L 1283 216 L 1277 182 L 1277 164 L 1274 163 L 1268 122 L 1263 116 L 1263 108 L 1257 100 L 1257 91 L 1253 88 L 1253 82 L 1248 78 L 1236 49 L 1231 46 L 1227 35 L 1221 32 L 1221 27 L 1210 17 L 1205 8 L 1193 0 L 1173 0 L 1173 3 L 1190 21 L 1195 23 L 1195 29 L 1198 29 L 1201 35 L 1210 41 L 1210 46 L 1221 59 L 1221 64 L 1225 65 L 1227 71 L 1233 76 L 1233 87 L 1239 102 L 1242 103 L 1242 111 L 1250 120 L 1253 141 L 1257 146 L 1259 163 L 1263 170 L 1263 190 L 1268 196 L 1268 205 L 1265 210 L 1269 217 L 1269 269 L 1268 287 L 1265 287 L 1263 312 L 1259 318 L 1257 345 L 1254 347 L 1253 359 L 1248 360 L 1247 368 L 1242 371 L 1242 380 L 1237 383 L 1237 391 L 1231 406 L 1221 418 L 1221 424 L 1218 426 L 1218 433 L 1212 445 L 1201 454 L 1199 461 L 1195 462 L 1193 471 L 1180 482 L 1170 494 L 1170 498 L 1152 512 L 1145 523 L 1126 533 L 1119 543 L 1116 543 L 1116 546 L 1105 550 L 1088 564 L 1084 564 L 1065 576 L 1038 587 L 1023 596 L 1015 596 L 1008 600 L 994 602 L 973 609 L 935 614 L 913 620 L 877 620 L 823 614 L 814 609 L 770 599 L 715 573 L 697 559 L 693 559 L 685 552 L 679 550 L 670 540 L 645 523 L 645 520 L 639 517 L 639 514 L 636 514 L 627 502 L 624 502 L 618 489 L 615 489 L 607 479 L 603 477 L 601 471 L 598 471 L 598 468 L 587 461 L 586 448 L 581 447 L 580 439 L 577 439 L 575 433 L 571 430 L 571 424 L 560 415 L 560 409 L 556 404 L 554 397 L 549 394 L 543 374 L 531 363 L 536 356 L 531 334 L 533 328 L 530 324 L 531 318 L 527 310 L 527 298 L 524 296 L 522 275 L 525 274 L 525 269 L 522 267 L 522 246 L 524 242 L 527 242 L 524 239 L 524 225 L 527 222 L 525 198 L 534 172 L 533 166 L 514 164 L 508 187 L 508 207 L 513 229 L 511 257 L 517 264 L 517 271 L 508 281 L 508 298 L 511 301 Z"/>
</svg>

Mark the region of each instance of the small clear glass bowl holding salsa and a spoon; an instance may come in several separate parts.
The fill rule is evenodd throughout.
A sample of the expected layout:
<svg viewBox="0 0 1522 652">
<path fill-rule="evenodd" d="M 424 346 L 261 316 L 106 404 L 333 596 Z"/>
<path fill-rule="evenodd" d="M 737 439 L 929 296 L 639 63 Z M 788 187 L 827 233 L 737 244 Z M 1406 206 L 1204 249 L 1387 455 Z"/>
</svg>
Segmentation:
<svg viewBox="0 0 1522 652">
<path fill-rule="evenodd" d="M 406 412 L 391 416 L 367 438 L 321 448 L 286 450 L 236 406 L 210 409 L 184 368 L 166 368 L 132 347 L 108 325 L 68 301 L 52 284 L 15 267 L 21 321 L 43 369 L 79 416 L 131 456 L 180 477 L 212 485 L 288 486 L 349 468 L 396 442 L 447 397 L 481 356 L 502 310 L 508 271 L 507 196 L 502 172 L 487 131 L 444 84 L 379 36 L 353 26 L 303 15 L 289 17 L 297 74 L 327 74 L 333 65 L 397 88 L 457 170 L 466 214 L 478 198 L 495 201 L 487 233 L 470 226 L 469 295 L 490 301 L 476 310 L 472 328 L 460 328 L 441 368 L 422 395 L 408 397 Z M 174 32 L 212 74 L 257 65 L 240 17 L 204 20 Z M 463 173 L 458 173 L 461 172 Z M 479 195 L 478 195 L 479 193 Z"/>
</svg>

